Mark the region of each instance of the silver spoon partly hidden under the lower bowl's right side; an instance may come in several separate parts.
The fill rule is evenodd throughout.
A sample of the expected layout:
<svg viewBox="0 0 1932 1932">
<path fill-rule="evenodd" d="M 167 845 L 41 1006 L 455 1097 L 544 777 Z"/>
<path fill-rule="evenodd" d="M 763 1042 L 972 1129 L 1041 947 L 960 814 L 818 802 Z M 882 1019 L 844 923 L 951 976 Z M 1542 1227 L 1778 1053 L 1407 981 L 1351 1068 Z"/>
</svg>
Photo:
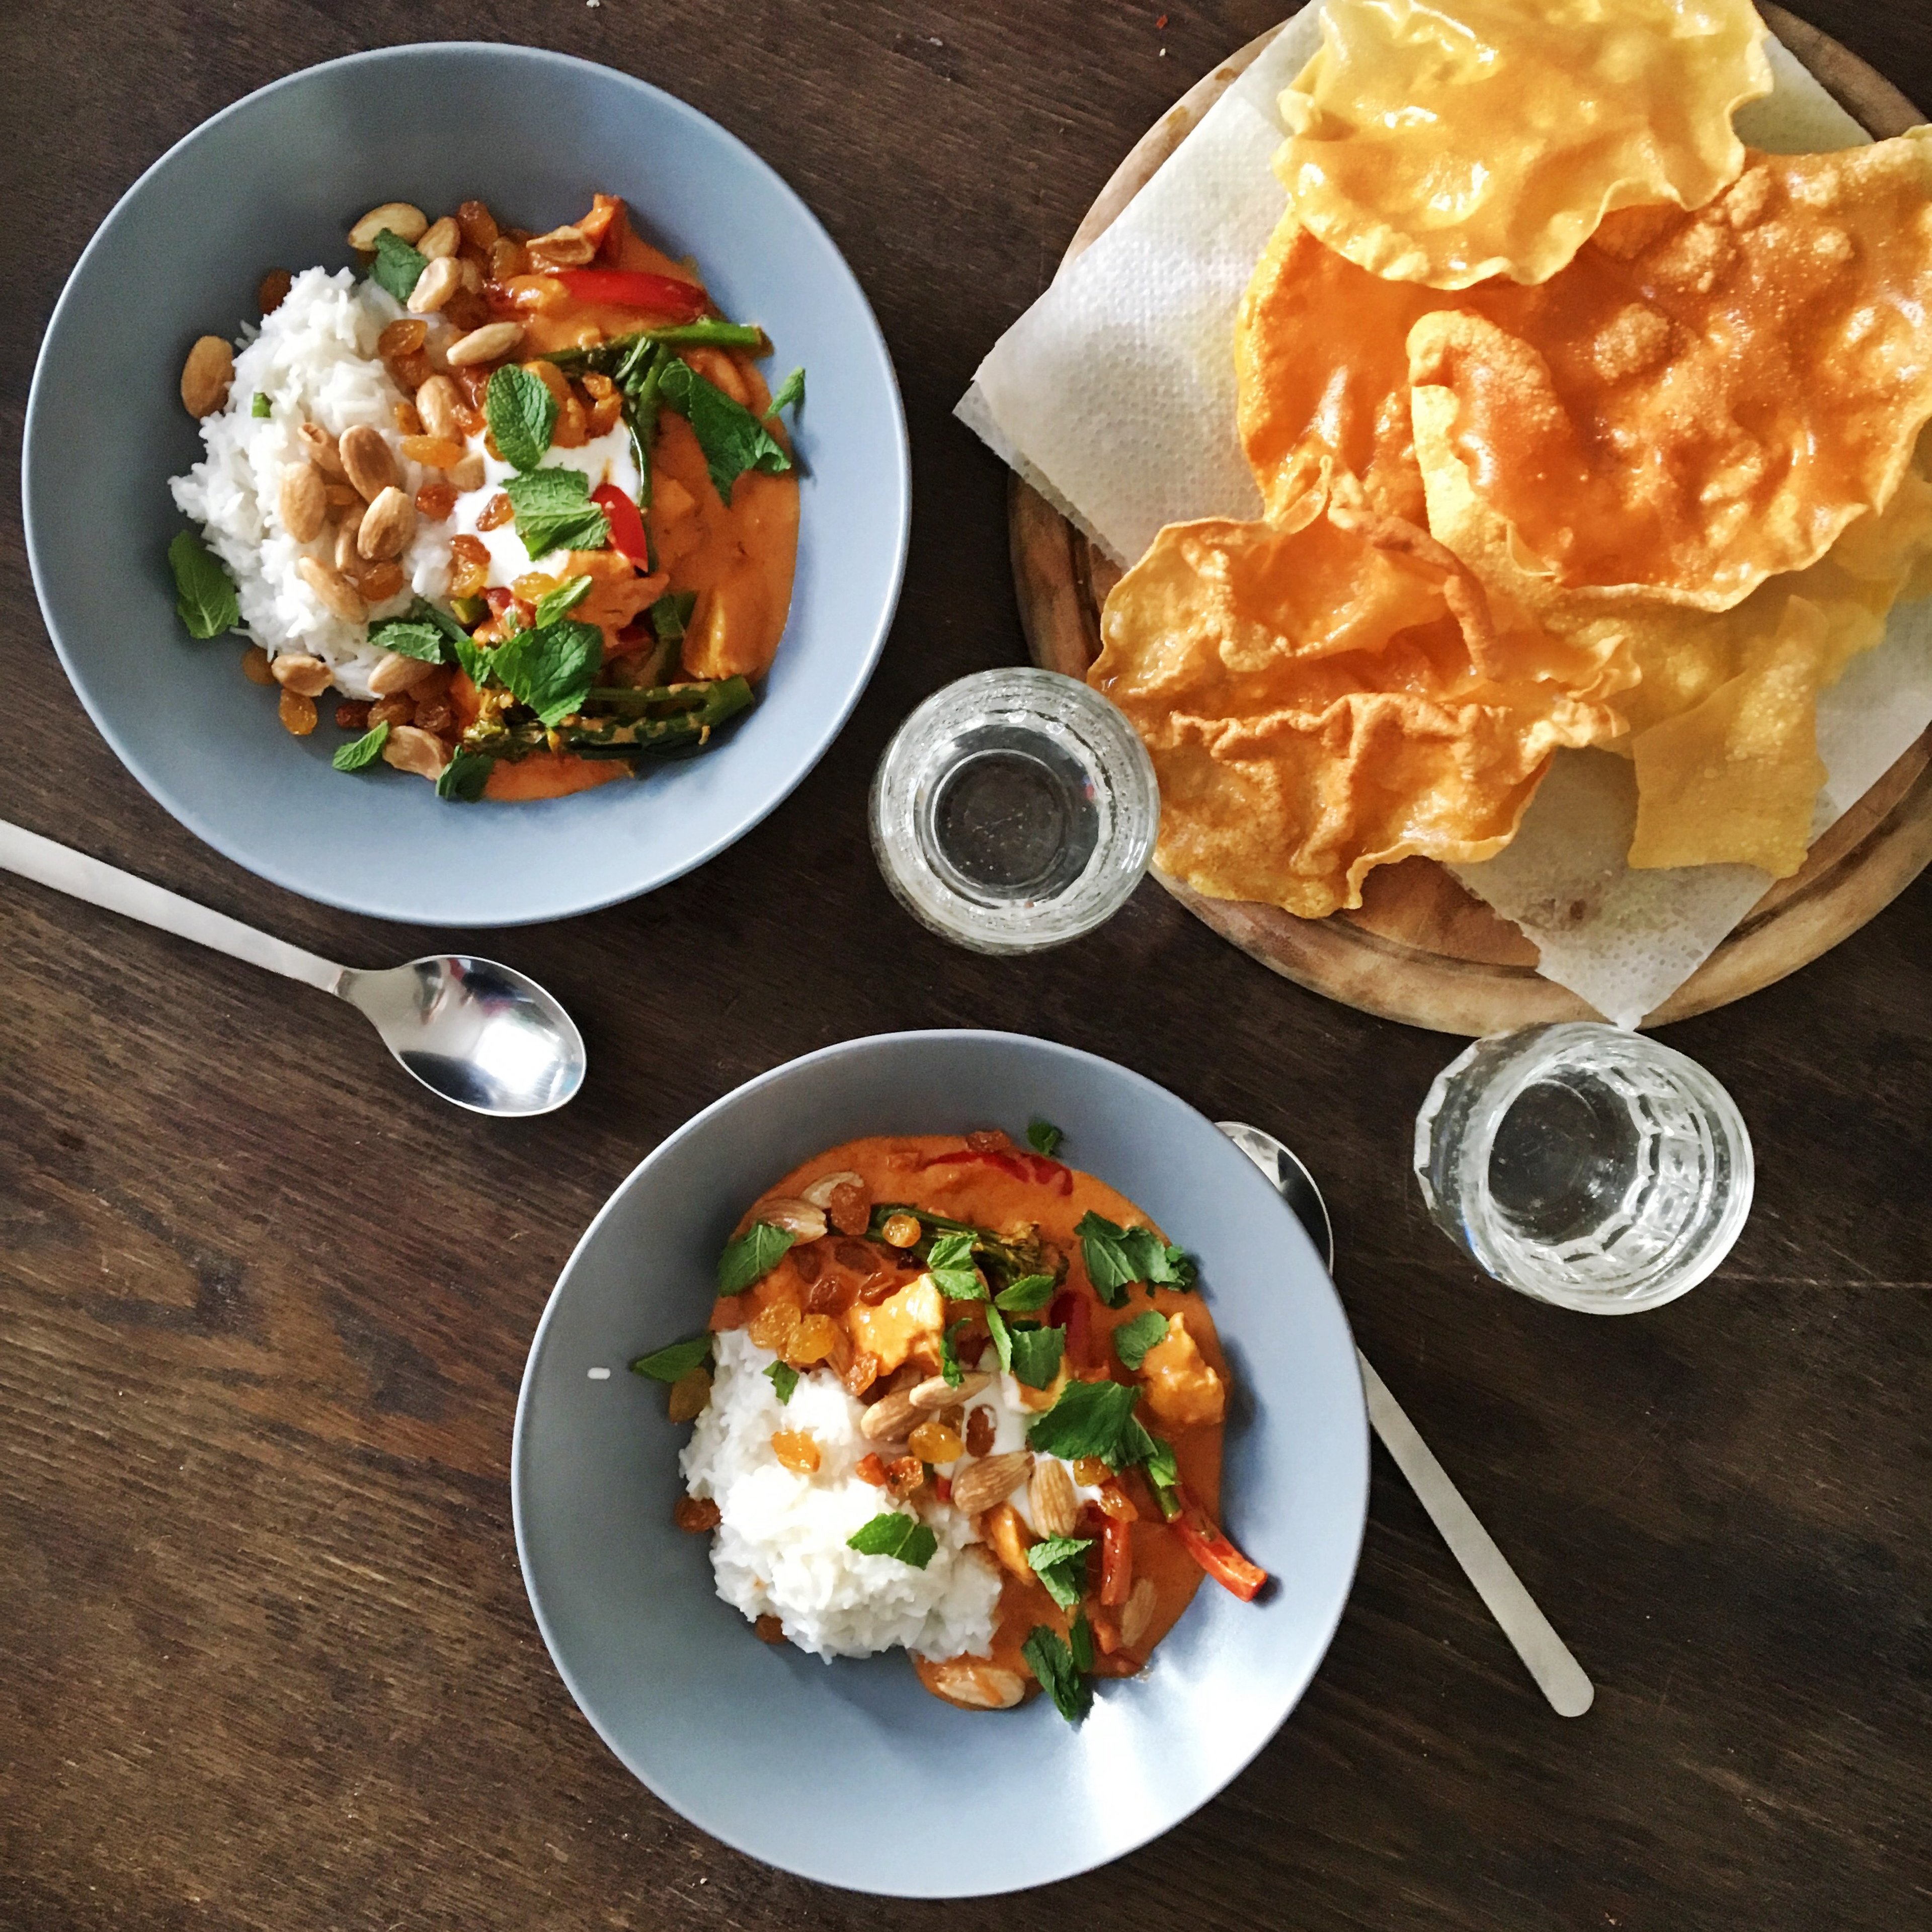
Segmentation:
<svg viewBox="0 0 1932 1932">
<path fill-rule="evenodd" d="M 1273 1134 L 1248 1126 L 1246 1121 L 1217 1121 L 1215 1126 L 1267 1175 L 1275 1192 L 1294 1211 L 1294 1219 L 1308 1231 L 1308 1238 L 1316 1244 L 1327 1271 L 1335 1273 L 1335 1225 L 1329 1221 L 1327 1202 L 1321 1200 L 1314 1175 L 1302 1167 L 1291 1148 L 1275 1140 Z M 1370 1368 L 1368 1356 L 1356 1349 L 1354 1358 L 1362 1368 L 1368 1420 L 1381 1437 L 1381 1447 L 1395 1459 L 1395 1466 L 1408 1478 L 1408 1488 L 1416 1492 L 1416 1499 L 1430 1513 L 1430 1522 L 1441 1530 L 1449 1555 L 1463 1565 L 1463 1575 L 1476 1586 L 1490 1615 L 1501 1625 L 1503 1636 L 1509 1638 L 1536 1679 L 1536 1689 L 1549 1698 L 1551 1710 L 1559 1718 L 1580 1718 L 1596 1698 L 1596 1689 L 1584 1677 L 1582 1665 L 1571 1656 L 1569 1644 L 1551 1629 L 1549 1619 L 1536 1607 L 1522 1578 L 1509 1567 L 1509 1559 L 1476 1520 L 1476 1511 L 1463 1501 L 1463 1492 L 1449 1480 L 1449 1472 L 1416 1434 L 1403 1405 L 1389 1395 L 1389 1385 Z"/>
</svg>

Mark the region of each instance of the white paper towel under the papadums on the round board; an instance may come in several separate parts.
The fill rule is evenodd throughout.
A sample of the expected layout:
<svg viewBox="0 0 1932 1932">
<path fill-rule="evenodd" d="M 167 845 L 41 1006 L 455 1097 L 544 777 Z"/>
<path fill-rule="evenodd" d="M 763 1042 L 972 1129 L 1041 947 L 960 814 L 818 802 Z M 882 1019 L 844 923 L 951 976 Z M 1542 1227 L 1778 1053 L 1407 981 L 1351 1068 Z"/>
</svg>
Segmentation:
<svg viewBox="0 0 1932 1932">
<path fill-rule="evenodd" d="M 1302 8 L 980 363 L 958 404 L 1057 510 L 1119 564 L 1163 524 L 1258 518 L 1235 431 L 1235 311 L 1283 211 L 1269 160 L 1281 91 L 1321 41 Z M 1737 114 L 1748 147 L 1816 155 L 1870 137 L 1776 39 L 1776 89 Z M 1818 699 L 1830 779 L 1816 838 L 1932 723 L 1932 603 Z M 1633 871 L 1636 781 L 1611 752 L 1557 752 L 1515 840 L 1455 875 L 1538 947 L 1540 972 L 1636 1026 L 1764 896 L 1752 866 Z"/>
</svg>

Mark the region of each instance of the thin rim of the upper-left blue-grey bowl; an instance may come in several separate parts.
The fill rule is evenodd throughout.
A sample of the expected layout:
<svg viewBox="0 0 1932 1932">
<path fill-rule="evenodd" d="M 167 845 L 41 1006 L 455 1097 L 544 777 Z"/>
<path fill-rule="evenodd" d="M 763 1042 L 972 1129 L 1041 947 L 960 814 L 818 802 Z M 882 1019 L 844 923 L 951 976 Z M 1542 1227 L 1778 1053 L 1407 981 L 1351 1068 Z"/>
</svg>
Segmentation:
<svg viewBox="0 0 1932 1932">
<path fill-rule="evenodd" d="M 585 60 L 582 54 L 558 54 L 547 46 L 527 46 L 520 41 L 406 41 L 400 46 L 373 46 L 357 54 L 340 54 L 334 60 L 321 60 L 307 68 L 298 68 L 294 73 L 284 73 L 280 79 L 269 81 L 257 87 L 240 100 L 230 100 L 228 106 L 216 108 L 207 120 L 197 122 L 187 129 L 178 141 L 172 141 L 160 155 L 156 155 L 116 197 L 114 207 L 100 218 L 100 226 L 87 238 L 87 245 L 73 259 L 73 267 L 68 270 L 66 280 L 60 284 L 60 296 L 46 319 L 46 328 L 41 332 L 41 348 L 33 359 L 33 381 L 27 386 L 27 412 L 21 419 L 21 448 L 19 448 L 19 504 L 21 504 L 21 531 L 27 545 L 27 572 L 33 580 L 35 603 L 41 607 L 41 622 L 46 628 L 48 641 L 54 645 L 54 655 L 60 659 L 60 668 L 68 676 L 68 684 L 73 696 L 79 697 L 81 709 L 91 719 L 93 726 L 106 740 L 108 750 L 120 759 L 122 769 L 128 771 L 135 782 L 155 800 L 178 825 L 185 825 L 203 844 L 213 846 L 222 858 L 240 866 L 243 871 L 253 873 L 257 879 L 267 879 L 270 885 L 282 887 L 286 893 L 294 893 L 298 898 L 307 898 L 319 906 L 334 906 L 338 912 L 357 912 L 365 918 L 392 920 L 402 925 L 425 925 L 419 912 L 410 910 L 388 910 L 383 906 L 371 906 L 367 902 L 344 896 L 340 893 L 319 891 L 313 885 L 290 875 L 282 866 L 259 864 L 251 858 L 243 858 L 230 837 L 211 825 L 201 811 L 191 810 L 172 796 L 172 788 L 155 773 L 147 771 L 122 742 L 120 732 L 97 709 L 93 696 L 85 688 L 83 680 L 75 672 L 73 661 L 68 657 L 68 647 L 62 641 L 60 626 L 52 620 L 52 607 L 48 603 L 46 587 L 43 583 L 41 572 L 41 543 L 35 529 L 35 489 L 33 489 L 33 456 L 37 437 L 37 423 L 41 417 L 43 386 L 46 379 L 48 354 L 60 332 L 60 325 L 66 319 L 68 303 L 75 299 L 75 286 L 81 278 L 81 270 L 93 259 L 95 251 L 108 243 L 114 228 L 120 224 L 128 205 L 135 195 L 147 185 L 153 174 L 174 160 L 176 155 L 193 147 L 211 128 L 228 120 L 232 114 L 240 114 L 243 108 L 282 91 L 284 87 L 299 87 L 313 79 L 317 73 L 327 73 L 336 68 L 367 66 L 384 60 L 413 60 L 427 54 L 487 54 L 491 58 L 512 58 L 512 60 L 539 60 L 551 62 L 566 68 L 585 68 L 593 73 L 605 75 L 611 81 L 622 83 L 624 87 L 638 89 L 649 95 L 661 106 L 670 108 L 672 114 L 696 122 L 723 141 L 730 143 L 738 153 L 761 174 L 765 174 L 779 195 L 790 203 L 792 213 L 798 220 L 806 222 L 810 228 L 817 230 L 825 247 L 831 251 L 833 261 L 844 270 L 852 282 L 852 294 L 858 298 L 860 313 L 866 317 L 866 350 L 869 352 L 877 375 L 885 381 L 885 392 L 893 402 L 893 421 L 898 429 L 896 448 L 895 448 L 895 468 L 893 468 L 893 493 L 896 497 L 896 545 L 891 570 L 891 591 L 885 605 L 873 624 L 873 636 L 867 641 L 864 653 L 852 667 L 850 690 L 838 701 L 837 713 L 829 721 L 819 742 L 811 748 L 810 757 L 806 757 L 790 781 L 752 817 L 738 825 L 730 833 L 721 833 L 717 838 L 707 842 L 703 848 L 696 850 L 690 858 L 682 860 L 674 867 L 649 877 L 643 885 L 624 885 L 611 893 L 593 895 L 582 902 L 568 906 L 549 906 L 539 912 L 518 912 L 508 916 L 491 918 L 466 918 L 454 922 L 427 922 L 435 929 L 464 931 L 481 929 L 491 931 L 497 927 L 512 925 L 545 925 L 551 920 L 570 920 L 585 912 L 603 912 L 609 906 L 620 906 L 624 900 L 641 898 L 645 893 L 655 893 L 659 887 L 670 885 L 682 879 L 686 873 L 696 871 L 699 866 L 707 866 L 721 852 L 726 852 L 748 833 L 755 831 L 779 806 L 784 804 L 792 792 L 817 769 L 819 761 L 838 740 L 838 734 L 846 728 L 854 709 L 858 709 L 860 697 L 866 696 L 866 686 L 871 682 L 873 670 L 879 668 L 879 657 L 885 651 L 885 639 L 893 630 L 893 618 L 898 614 L 898 597 L 906 583 L 906 554 L 912 545 L 912 440 L 906 429 L 906 402 L 898 388 L 898 371 L 893 365 L 893 352 L 887 348 L 885 330 L 879 327 L 879 317 L 873 313 L 871 298 L 866 294 L 866 286 L 860 282 L 852 265 L 844 257 L 844 249 L 831 238 L 831 232 L 811 211 L 804 195 L 798 193 L 792 184 L 779 174 L 779 170 L 765 160 L 748 141 L 734 135 L 723 122 L 713 120 L 701 108 L 694 108 L 688 100 L 678 99 L 678 95 L 657 87 L 651 81 L 638 79 L 634 73 L 624 73 L 618 68 L 605 66 L 601 60 Z"/>
</svg>

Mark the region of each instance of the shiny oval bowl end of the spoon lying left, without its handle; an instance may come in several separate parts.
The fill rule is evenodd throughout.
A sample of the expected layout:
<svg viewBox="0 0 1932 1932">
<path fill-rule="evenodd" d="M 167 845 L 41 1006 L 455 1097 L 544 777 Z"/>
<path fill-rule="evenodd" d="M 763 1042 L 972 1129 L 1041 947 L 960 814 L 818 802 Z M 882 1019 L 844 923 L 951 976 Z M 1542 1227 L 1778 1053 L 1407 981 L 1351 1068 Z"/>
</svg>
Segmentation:
<svg viewBox="0 0 1932 1932">
<path fill-rule="evenodd" d="M 344 968 L 334 987 L 404 1072 L 469 1113 L 554 1113 L 583 1086 L 576 1022 L 535 980 L 473 952 L 383 972 Z"/>
</svg>

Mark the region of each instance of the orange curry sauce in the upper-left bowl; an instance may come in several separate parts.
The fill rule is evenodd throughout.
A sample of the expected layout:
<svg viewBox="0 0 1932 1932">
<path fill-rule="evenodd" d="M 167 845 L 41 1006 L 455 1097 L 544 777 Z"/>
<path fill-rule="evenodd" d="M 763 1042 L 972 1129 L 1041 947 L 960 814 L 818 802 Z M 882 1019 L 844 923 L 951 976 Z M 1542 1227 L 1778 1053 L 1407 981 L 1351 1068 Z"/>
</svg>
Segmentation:
<svg viewBox="0 0 1932 1932">
<path fill-rule="evenodd" d="M 661 274 L 690 288 L 703 288 L 690 263 L 672 261 L 641 240 L 630 226 L 624 203 L 611 195 L 597 195 L 591 213 L 574 226 L 595 242 L 597 251 L 585 267 Z M 616 336 L 636 334 L 639 328 L 657 328 L 682 319 L 612 301 L 583 301 L 572 296 L 556 274 L 541 272 L 539 265 L 524 267 L 531 272 L 491 280 L 487 288 L 491 313 L 524 325 L 524 342 L 514 359 L 537 373 L 560 404 L 574 396 L 585 413 L 595 408 L 595 398 L 568 381 L 554 363 L 545 361 L 547 352 L 593 348 Z M 715 313 L 709 301 L 705 311 Z M 763 417 L 771 408 L 771 390 L 757 369 L 755 350 L 690 344 L 678 354 L 753 415 Z M 495 367 L 498 365 L 489 363 L 464 371 L 477 408 L 483 384 Z M 781 419 L 769 417 L 765 427 L 790 450 L 790 437 Z M 665 591 L 692 591 L 697 603 L 684 636 L 682 676 L 690 680 L 744 676 L 753 682 L 763 678 L 777 657 L 792 607 L 792 574 L 798 560 L 798 473 L 769 475 L 763 469 L 748 469 L 732 485 L 730 502 L 723 502 L 705 468 L 697 437 L 690 423 L 668 408 L 659 412 L 649 466 L 651 504 L 645 510 L 645 526 L 657 570 L 647 574 L 616 547 L 572 551 L 554 578 L 547 576 L 541 583 L 533 578 L 520 580 L 516 585 L 520 599 L 527 589 L 529 597 L 524 601 L 533 603 L 551 583 L 580 574 L 591 576 L 591 593 L 572 616 L 597 624 L 603 632 L 603 680 L 626 682 L 622 661 L 643 661 L 657 643 L 643 612 Z M 524 622 L 529 622 L 529 614 L 527 609 L 522 612 Z M 479 641 L 491 641 L 489 626 Z M 462 672 L 454 678 L 450 701 L 466 726 L 475 723 L 477 690 Z M 628 769 L 616 759 L 537 752 L 518 761 L 498 761 L 483 796 L 558 798 L 626 777 Z"/>
</svg>

